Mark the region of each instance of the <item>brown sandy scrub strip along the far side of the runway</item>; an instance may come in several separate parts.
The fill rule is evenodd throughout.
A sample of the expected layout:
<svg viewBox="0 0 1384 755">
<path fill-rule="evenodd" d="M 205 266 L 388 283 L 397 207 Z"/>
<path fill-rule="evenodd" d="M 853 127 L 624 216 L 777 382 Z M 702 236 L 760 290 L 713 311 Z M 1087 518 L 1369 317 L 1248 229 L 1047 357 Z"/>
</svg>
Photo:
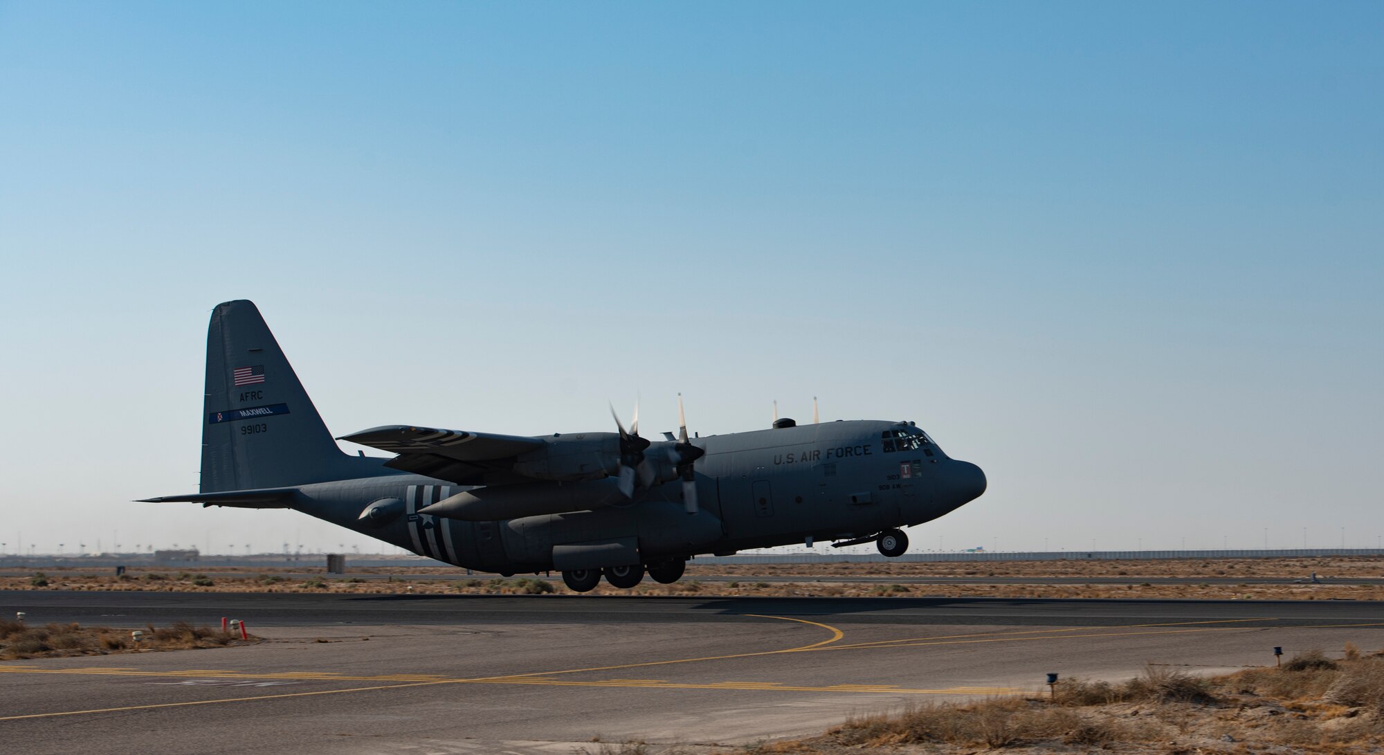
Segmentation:
<svg viewBox="0 0 1384 755">
<path fill-rule="evenodd" d="M 303 579 L 302 574 L 314 574 Z M 91 574 L 91 570 L 47 570 L 47 585 L 36 586 L 29 574 L 0 577 L 0 589 L 72 590 L 166 590 L 166 592 L 350 592 L 350 593 L 547 593 L 569 592 L 561 581 L 516 577 L 511 579 L 458 579 L 447 567 L 392 567 L 353 570 L 346 575 L 321 574 L 321 568 L 257 570 L 208 568 L 131 570 L 125 578 Z M 1309 582 L 1316 574 L 1323 582 Z M 284 577 L 298 574 L 299 577 Z M 316 577 L 316 574 L 321 574 Z M 353 574 L 392 575 L 392 581 L 363 579 Z M 408 577 L 404 577 L 404 575 Z M 436 578 L 433 577 L 436 575 Z M 736 577 L 734 581 L 699 578 Z M 444 578 L 451 577 L 451 578 Z M 554 575 L 555 577 L 555 575 Z M 793 582 L 765 582 L 758 578 L 800 577 Z M 818 582 L 821 578 L 847 579 Z M 908 585 L 850 582 L 851 577 L 934 577 L 934 578 L 1109 578 L 1150 579 L 1150 582 L 1064 584 L 1064 585 Z M 1282 585 L 1233 582 L 1237 577 L 1302 579 Z M 1232 579 L 1228 584 L 1160 584 L 1158 579 Z M 1340 585 L 1336 578 L 1384 578 L 1384 559 L 1193 559 L 1158 561 L 996 561 L 996 563 L 887 563 L 887 564 L 747 564 L 689 567 L 673 585 L 645 579 L 632 590 L 605 582 L 588 595 L 698 595 L 698 596 L 909 596 L 909 597 L 1143 597 L 1215 600 L 1384 600 L 1384 585 Z M 40 579 L 42 582 L 42 579 Z"/>
</svg>

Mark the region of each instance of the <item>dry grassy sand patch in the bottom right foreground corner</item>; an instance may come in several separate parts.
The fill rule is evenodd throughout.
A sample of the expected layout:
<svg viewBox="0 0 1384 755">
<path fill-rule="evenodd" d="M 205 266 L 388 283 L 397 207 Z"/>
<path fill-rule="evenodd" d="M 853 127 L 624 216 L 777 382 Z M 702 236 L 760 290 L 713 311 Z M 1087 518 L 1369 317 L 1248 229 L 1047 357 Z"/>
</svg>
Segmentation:
<svg viewBox="0 0 1384 755">
<path fill-rule="evenodd" d="M 1150 665 L 1124 683 L 1064 679 L 1050 696 L 911 705 L 778 744 L 812 754 L 1384 752 L 1384 654 L 1344 655 L 1311 650 L 1282 668 L 1205 679 Z"/>
</svg>

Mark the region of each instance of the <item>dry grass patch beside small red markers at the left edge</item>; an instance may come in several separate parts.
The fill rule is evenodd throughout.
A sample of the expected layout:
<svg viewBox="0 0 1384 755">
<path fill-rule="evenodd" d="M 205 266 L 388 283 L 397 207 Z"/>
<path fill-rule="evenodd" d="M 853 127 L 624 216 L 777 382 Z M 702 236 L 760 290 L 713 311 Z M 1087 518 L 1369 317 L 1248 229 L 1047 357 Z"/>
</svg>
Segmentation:
<svg viewBox="0 0 1384 755">
<path fill-rule="evenodd" d="M 50 655 L 105 655 L 134 650 L 181 650 L 220 647 L 238 642 L 230 632 L 192 626 L 179 621 L 172 626 L 149 625 L 138 646 L 129 631 L 80 624 L 46 624 L 30 626 L 19 621 L 0 619 L 0 660 L 39 658 Z"/>
</svg>

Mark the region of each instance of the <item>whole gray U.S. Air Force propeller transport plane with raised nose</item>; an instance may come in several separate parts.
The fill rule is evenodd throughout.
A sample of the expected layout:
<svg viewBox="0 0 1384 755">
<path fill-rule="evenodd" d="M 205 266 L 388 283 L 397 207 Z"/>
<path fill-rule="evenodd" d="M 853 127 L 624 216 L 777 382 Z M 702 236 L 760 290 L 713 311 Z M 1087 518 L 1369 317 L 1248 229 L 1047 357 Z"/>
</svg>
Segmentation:
<svg viewBox="0 0 1384 755">
<path fill-rule="evenodd" d="M 612 409 L 612 413 L 614 411 Z M 293 509 L 418 553 L 512 575 L 561 570 L 585 592 L 675 582 L 698 553 L 815 541 L 875 541 L 901 556 L 900 527 L 980 496 L 985 474 L 912 422 L 796 425 L 664 440 L 638 409 L 613 433 L 501 436 L 390 425 L 340 451 L 259 310 L 227 301 L 206 339 L 201 492 L 149 498 Z M 681 483 L 681 484 L 670 484 Z"/>
</svg>

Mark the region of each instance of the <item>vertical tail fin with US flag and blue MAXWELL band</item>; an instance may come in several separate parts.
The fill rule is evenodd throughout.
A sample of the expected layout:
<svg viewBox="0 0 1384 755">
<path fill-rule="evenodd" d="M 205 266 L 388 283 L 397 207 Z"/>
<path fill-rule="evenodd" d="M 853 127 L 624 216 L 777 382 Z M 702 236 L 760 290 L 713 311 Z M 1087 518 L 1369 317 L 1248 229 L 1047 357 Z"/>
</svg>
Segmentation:
<svg viewBox="0 0 1384 755">
<path fill-rule="evenodd" d="M 217 304 L 206 332 L 201 492 L 394 474 L 336 447 L 255 303 Z"/>
</svg>

